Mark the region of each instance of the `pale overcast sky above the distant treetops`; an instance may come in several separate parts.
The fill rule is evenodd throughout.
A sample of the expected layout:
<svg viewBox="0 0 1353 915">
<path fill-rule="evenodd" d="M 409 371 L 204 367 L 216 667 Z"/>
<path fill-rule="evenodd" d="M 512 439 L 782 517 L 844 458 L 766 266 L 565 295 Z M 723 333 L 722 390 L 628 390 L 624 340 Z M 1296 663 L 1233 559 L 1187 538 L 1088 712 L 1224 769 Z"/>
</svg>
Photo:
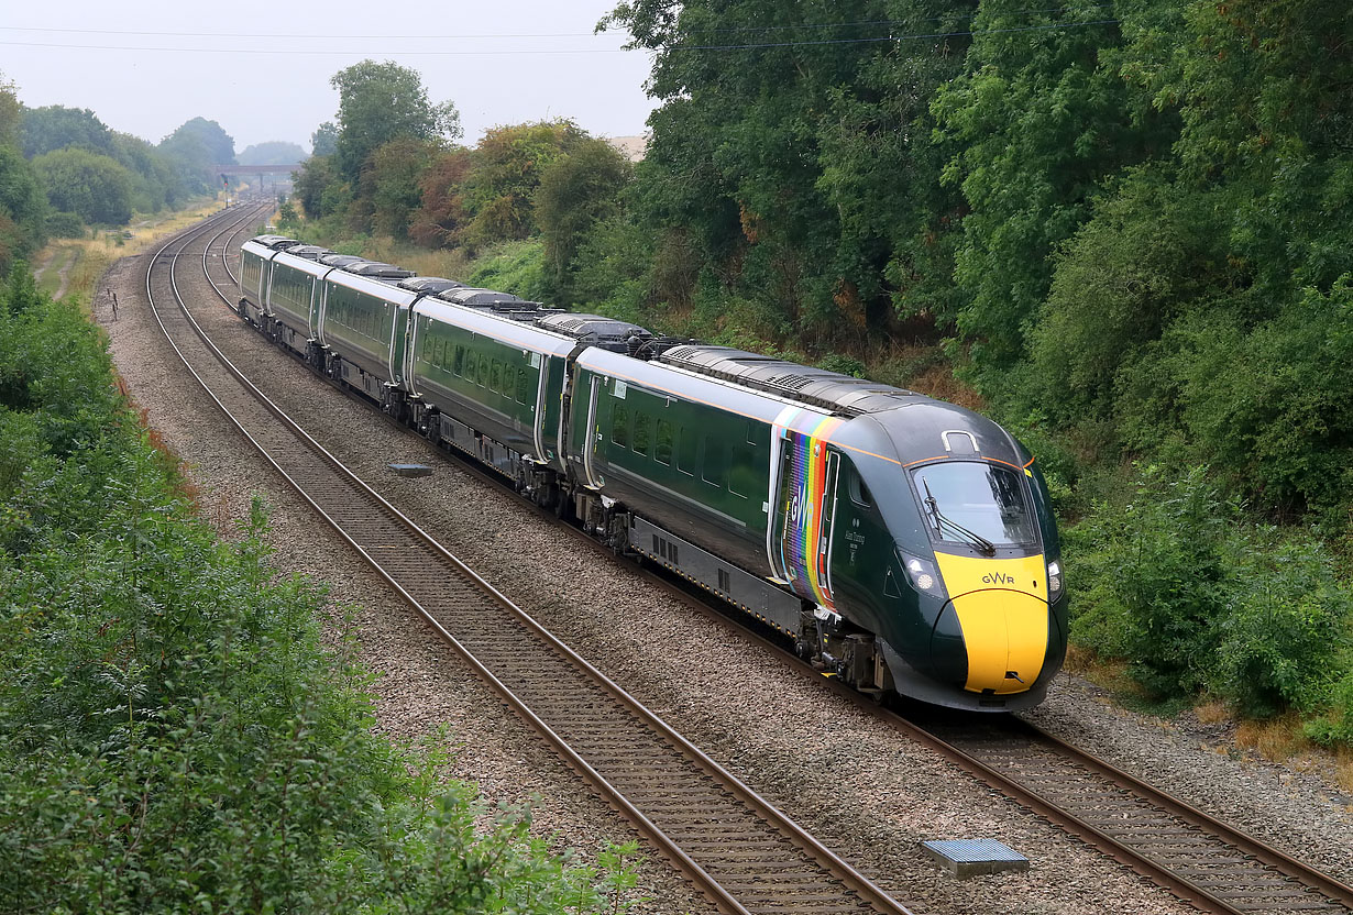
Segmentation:
<svg viewBox="0 0 1353 915">
<path fill-rule="evenodd" d="M 644 133 L 649 58 L 593 35 L 613 0 L 199 4 L 4 0 L 0 70 L 30 107 L 92 108 L 158 142 L 216 120 L 235 152 L 268 139 L 310 149 L 338 110 L 329 77 L 364 58 L 422 73 L 460 110 L 465 141 L 487 127 L 572 118 L 593 134 Z M 173 34 L 170 34 L 173 32 Z"/>
</svg>

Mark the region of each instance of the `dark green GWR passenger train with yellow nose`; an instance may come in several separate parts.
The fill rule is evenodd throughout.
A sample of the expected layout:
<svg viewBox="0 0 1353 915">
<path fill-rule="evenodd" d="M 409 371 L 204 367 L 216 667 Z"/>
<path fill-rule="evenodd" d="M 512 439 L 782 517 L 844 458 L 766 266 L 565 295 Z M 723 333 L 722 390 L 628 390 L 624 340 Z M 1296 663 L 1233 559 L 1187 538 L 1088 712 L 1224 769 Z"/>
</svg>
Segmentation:
<svg viewBox="0 0 1353 915">
<path fill-rule="evenodd" d="M 280 236 L 242 244 L 238 313 L 856 690 L 1011 712 L 1062 666 L 1047 487 L 978 413 Z"/>
</svg>

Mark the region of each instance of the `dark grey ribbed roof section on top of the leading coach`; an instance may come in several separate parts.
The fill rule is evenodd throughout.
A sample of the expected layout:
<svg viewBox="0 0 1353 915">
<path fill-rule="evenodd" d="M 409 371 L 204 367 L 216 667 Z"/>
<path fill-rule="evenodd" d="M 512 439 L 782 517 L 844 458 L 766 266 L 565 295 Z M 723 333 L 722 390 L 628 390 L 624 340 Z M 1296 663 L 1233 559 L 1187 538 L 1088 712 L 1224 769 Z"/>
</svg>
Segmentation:
<svg viewBox="0 0 1353 915">
<path fill-rule="evenodd" d="M 881 413 L 928 399 L 901 387 L 731 347 L 678 344 L 664 349 L 658 359 L 667 365 L 775 394 L 831 413 L 850 416 Z"/>
</svg>

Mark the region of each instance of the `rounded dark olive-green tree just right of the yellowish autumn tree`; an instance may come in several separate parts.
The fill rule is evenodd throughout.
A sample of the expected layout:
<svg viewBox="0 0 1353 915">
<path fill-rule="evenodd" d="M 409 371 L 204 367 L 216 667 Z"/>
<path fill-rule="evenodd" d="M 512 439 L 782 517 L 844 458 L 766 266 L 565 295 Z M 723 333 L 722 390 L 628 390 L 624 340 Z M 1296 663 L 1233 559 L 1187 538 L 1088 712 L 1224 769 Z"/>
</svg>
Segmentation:
<svg viewBox="0 0 1353 915">
<path fill-rule="evenodd" d="M 568 283 L 578 246 L 601 221 L 620 210 L 620 192 L 633 166 L 605 139 L 586 138 L 545 166 L 536 194 L 536 221 L 556 296 L 572 300 Z"/>
</svg>

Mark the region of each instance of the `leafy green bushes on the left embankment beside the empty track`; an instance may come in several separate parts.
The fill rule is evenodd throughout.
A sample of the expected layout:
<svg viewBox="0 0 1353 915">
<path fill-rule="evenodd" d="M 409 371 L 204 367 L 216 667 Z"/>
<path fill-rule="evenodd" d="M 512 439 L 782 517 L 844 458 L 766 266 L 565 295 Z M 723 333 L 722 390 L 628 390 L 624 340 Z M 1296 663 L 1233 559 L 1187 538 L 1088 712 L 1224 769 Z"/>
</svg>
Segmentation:
<svg viewBox="0 0 1353 915">
<path fill-rule="evenodd" d="M 322 592 L 231 545 L 120 401 L 97 330 L 0 290 L 0 908 L 614 912 L 633 846 L 560 860 L 372 734 Z"/>
</svg>

